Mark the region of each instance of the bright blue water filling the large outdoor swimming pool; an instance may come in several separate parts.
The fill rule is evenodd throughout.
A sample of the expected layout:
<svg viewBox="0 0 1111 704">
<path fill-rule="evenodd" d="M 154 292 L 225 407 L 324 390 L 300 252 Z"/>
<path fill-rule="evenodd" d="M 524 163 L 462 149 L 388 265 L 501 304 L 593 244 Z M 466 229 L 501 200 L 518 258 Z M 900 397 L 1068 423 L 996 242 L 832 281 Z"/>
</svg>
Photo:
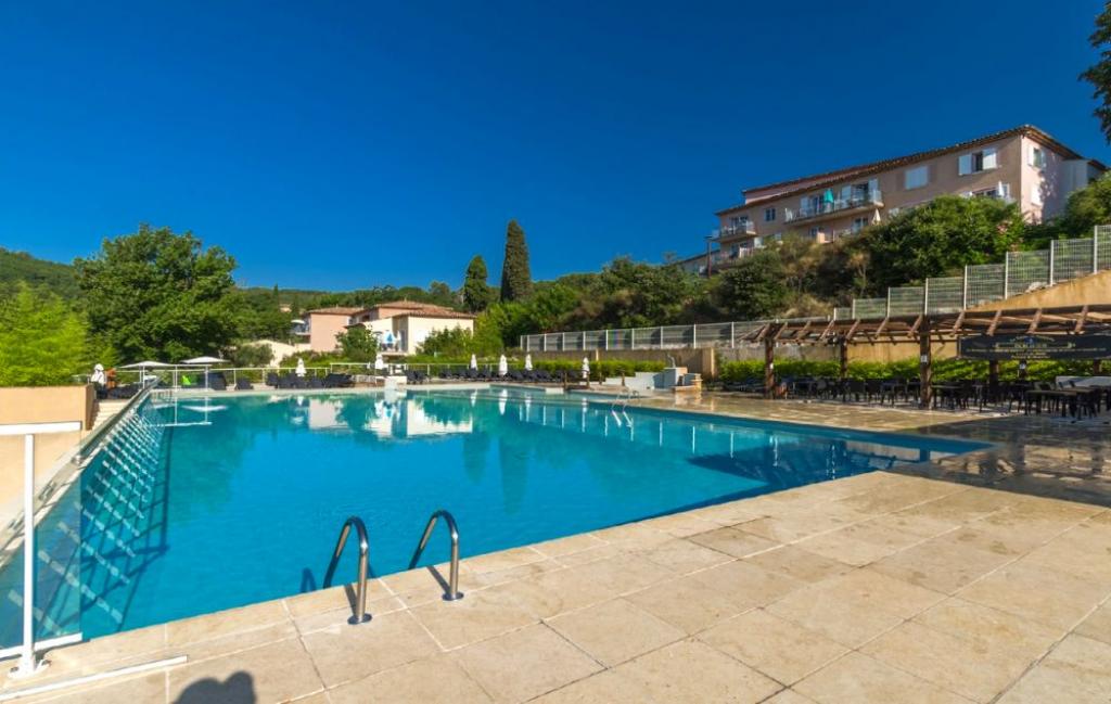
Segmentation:
<svg viewBox="0 0 1111 704">
<path fill-rule="evenodd" d="M 152 398 L 121 425 L 39 530 L 43 635 L 319 589 L 352 514 L 384 575 L 441 507 L 466 557 L 982 446 L 498 390 Z M 446 559 L 437 535 L 422 564 Z M 0 572 L 4 644 L 19 564 Z"/>
</svg>

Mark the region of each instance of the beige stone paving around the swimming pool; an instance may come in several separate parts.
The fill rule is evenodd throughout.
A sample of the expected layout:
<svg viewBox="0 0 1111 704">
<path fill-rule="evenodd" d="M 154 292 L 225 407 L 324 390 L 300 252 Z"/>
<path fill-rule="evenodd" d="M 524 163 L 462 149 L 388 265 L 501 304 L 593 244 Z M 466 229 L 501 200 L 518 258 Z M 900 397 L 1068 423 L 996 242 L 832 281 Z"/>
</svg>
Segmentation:
<svg viewBox="0 0 1111 704">
<path fill-rule="evenodd" d="M 1100 421 L 687 403 L 1003 444 L 471 557 L 457 602 L 440 599 L 443 565 L 377 579 L 358 626 L 348 585 L 96 638 L 0 696 L 186 655 L 19 701 L 1111 698 Z"/>
</svg>

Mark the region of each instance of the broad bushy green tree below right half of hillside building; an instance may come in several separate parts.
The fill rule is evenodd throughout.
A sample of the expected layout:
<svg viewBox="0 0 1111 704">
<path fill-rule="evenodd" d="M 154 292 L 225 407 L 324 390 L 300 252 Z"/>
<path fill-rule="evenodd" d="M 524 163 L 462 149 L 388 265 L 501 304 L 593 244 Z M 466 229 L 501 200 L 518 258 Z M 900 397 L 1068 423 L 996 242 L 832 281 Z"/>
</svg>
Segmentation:
<svg viewBox="0 0 1111 704">
<path fill-rule="evenodd" d="M 869 284 L 881 293 L 927 276 L 955 274 L 965 264 L 1002 259 L 1022 237 L 1019 207 L 992 198 L 942 195 L 861 233 Z"/>
</svg>

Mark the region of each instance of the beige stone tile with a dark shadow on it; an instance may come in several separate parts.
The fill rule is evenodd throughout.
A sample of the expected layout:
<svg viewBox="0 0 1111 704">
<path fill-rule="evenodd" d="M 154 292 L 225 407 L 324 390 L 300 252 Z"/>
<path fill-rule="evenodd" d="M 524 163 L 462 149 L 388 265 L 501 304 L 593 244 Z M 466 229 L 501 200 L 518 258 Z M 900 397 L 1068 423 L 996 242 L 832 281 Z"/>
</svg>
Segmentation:
<svg viewBox="0 0 1111 704">
<path fill-rule="evenodd" d="M 182 698 L 187 691 L 198 697 L 194 701 L 244 701 L 229 697 L 252 691 L 256 698 L 246 701 L 281 702 L 323 688 L 312 660 L 297 638 L 173 667 L 168 674 L 171 702 Z"/>
</svg>

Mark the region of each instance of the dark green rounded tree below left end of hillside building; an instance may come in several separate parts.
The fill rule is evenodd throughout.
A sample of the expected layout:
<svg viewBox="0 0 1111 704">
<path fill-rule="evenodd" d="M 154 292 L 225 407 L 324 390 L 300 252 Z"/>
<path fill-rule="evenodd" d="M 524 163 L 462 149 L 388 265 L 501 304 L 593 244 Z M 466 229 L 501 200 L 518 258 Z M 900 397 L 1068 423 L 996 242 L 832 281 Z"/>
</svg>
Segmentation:
<svg viewBox="0 0 1111 704">
<path fill-rule="evenodd" d="M 773 249 L 757 250 L 725 269 L 713 288 L 718 308 L 732 320 L 757 320 L 780 312 L 790 290 L 783 261 Z"/>
</svg>

